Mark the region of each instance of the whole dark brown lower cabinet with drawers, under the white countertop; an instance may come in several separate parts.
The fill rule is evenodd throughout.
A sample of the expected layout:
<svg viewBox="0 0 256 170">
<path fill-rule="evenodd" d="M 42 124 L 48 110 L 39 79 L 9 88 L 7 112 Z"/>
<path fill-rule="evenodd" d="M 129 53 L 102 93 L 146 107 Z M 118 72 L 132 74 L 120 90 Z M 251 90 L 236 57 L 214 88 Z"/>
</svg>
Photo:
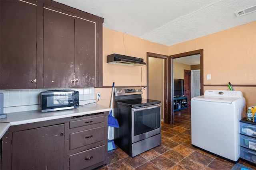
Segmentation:
<svg viewBox="0 0 256 170">
<path fill-rule="evenodd" d="M 108 112 L 11 126 L 1 170 L 91 170 L 106 164 Z"/>
</svg>

